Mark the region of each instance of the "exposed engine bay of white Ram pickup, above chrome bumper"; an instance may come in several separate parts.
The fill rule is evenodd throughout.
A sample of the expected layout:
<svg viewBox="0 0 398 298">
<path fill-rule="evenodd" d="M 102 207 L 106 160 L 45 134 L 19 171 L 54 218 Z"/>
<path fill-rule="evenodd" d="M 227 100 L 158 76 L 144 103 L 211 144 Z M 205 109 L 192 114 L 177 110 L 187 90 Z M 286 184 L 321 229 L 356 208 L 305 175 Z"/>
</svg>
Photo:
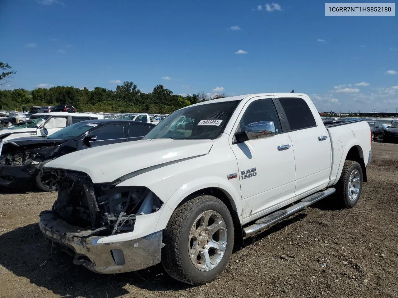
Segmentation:
<svg viewBox="0 0 398 298">
<path fill-rule="evenodd" d="M 156 212 L 163 204 L 146 187 L 93 184 L 83 172 L 43 172 L 48 171 L 58 189 L 53 211 L 66 223 L 90 230 L 86 236 L 132 231 L 136 216 Z"/>
</svg>

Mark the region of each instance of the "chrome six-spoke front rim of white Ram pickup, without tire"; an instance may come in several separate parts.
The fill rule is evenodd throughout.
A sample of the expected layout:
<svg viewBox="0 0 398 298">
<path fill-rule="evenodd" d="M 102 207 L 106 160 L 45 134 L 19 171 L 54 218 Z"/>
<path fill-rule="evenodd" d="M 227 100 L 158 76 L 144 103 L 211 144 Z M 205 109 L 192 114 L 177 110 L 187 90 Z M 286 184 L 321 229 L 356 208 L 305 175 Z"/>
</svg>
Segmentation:
<svg viewBox="0 0 398 298">
<path fill-rule="evenodd" d="M 188 250 L 193 265 L 201 271 L 216 267 L 226 250 L 227 231 L 224 219 L 216 211 L 205 211 L 192 225 Z"/>
</svg>

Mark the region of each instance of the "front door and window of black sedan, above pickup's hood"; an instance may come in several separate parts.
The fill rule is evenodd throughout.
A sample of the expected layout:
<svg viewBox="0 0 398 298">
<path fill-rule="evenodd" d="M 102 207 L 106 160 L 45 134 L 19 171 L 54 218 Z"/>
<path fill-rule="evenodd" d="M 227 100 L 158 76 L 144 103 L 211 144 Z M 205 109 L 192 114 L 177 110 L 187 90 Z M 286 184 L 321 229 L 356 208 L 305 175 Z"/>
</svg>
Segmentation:
<svg viewBox="0 0 398 298">
<path fill-rule="evenodd" d="M 127 141 L 127 125 L 126 124 L 106 124 L 91 133 L 97 139 L 89 141 L 90 147 L 97 147 Z"/>
</svg>

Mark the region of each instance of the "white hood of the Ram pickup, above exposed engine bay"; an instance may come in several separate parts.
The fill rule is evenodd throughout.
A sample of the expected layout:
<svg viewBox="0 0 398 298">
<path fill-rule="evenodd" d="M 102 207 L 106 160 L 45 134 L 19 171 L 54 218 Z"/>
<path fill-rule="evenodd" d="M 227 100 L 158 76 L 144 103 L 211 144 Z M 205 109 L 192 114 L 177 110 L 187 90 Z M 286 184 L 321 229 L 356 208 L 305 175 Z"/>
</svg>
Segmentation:
<svg viewBox="0 0 398 298">
<path fill-rule="evenodd" d="M 140 140 L 76 151 L 45 167 L 84 172 L 93 183 L 113 182 L 137 170 L 206 155 L 212 146 L 212 140 Z"/>
</svg>

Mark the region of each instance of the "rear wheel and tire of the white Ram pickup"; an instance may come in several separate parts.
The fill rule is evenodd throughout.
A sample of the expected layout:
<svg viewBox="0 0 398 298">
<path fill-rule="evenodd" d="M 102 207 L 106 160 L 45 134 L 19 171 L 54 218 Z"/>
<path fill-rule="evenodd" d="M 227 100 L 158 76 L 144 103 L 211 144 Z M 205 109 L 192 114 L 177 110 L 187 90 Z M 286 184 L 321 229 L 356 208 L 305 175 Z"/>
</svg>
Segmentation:
<svg viewBox="0 0 398 298">
<path fill-rule="evenodd" d="M 353 182 L 355 179 L 352 178 L 359 179 Z M 356 161 L 345 161 L 340 179 L 336 184 L 336 198 L 341 207 L 352 208 L 358 203 L 361 197 L 362 181 L 363 173 L 361 165 Z M 351 192 L 349 191 L 350 189 Z M 354 190 L 357 190 L 357 194 L 355 194 Z"/>
</svg>

